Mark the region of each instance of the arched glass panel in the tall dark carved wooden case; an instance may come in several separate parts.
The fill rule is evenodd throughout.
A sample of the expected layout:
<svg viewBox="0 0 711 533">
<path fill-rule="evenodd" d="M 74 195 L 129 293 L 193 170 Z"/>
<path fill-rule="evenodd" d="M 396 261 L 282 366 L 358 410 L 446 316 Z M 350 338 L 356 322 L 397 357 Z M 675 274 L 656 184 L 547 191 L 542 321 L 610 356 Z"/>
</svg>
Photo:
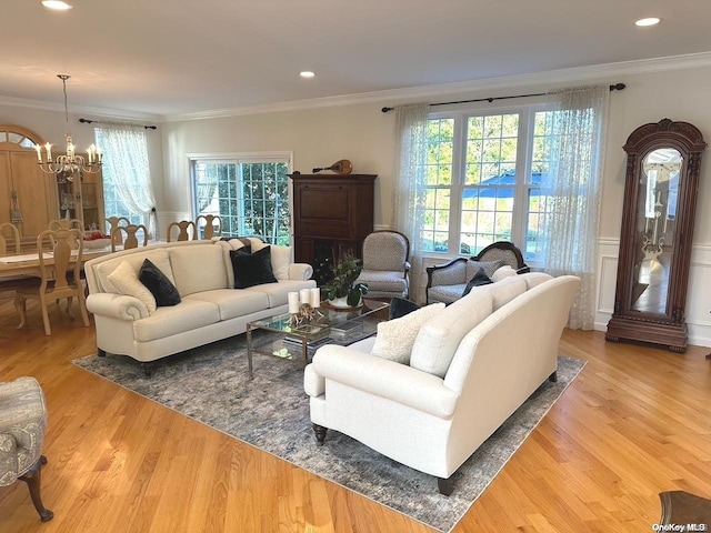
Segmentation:
<svg viewBox="0 0 711 533">
<path fill-rule="evenodd" d="M 641 161 L 630 302 L 634 311 L 667 314 L 682 163 L 681 153 L 673 148 L 657 149 Z"/>
</svg>

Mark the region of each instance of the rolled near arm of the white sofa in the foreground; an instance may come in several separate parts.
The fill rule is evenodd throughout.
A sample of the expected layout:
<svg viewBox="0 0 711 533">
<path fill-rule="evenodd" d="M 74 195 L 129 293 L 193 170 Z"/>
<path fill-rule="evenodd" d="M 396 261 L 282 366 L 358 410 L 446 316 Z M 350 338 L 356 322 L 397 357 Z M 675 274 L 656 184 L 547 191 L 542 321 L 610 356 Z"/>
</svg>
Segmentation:
<svg viewBox="0 0 711 533">
<path fill-rule="evenodd" d="M 440 419 L 451 418 L 459 400 L 459 394 L 447 389 L 444 381 L 437 375 L 348 346 L 321 346 L 309 366 L 326 380 L 387 398 Z"/>
</svg>

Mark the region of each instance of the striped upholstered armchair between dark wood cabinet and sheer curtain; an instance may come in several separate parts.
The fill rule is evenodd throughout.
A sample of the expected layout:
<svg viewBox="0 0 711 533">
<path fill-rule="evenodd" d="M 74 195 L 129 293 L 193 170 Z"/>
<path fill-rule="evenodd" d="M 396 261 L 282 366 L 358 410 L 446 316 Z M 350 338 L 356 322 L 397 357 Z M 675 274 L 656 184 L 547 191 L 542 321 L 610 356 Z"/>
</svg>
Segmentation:
<svg viewBox="0 0 711 533">
<path fill-rule="evenodd" d="M 368 285 L 368 298 L 408 298 L 410 241 L 399 231 L 374 231 L 363 240 L 363 270 L 356 283 Z"/>
</svg>

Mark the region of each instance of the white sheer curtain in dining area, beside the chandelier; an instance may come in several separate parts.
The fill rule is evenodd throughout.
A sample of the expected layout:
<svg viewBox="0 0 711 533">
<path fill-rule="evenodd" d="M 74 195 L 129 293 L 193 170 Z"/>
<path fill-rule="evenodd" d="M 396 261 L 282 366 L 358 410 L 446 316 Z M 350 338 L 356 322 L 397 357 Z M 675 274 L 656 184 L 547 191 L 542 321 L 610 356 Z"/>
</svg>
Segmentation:
<svg viewBox="0 0 711 533">
<path fill-rule="evenodd" d="M 119 200 L 134 214 L 148 220 L 148 231 L 158 235 L 156 197 L 148 164 L 148 142 L 142 127 L 96 129 L 103 155 L 103 175 L 114 185 Z"/>
</svg>

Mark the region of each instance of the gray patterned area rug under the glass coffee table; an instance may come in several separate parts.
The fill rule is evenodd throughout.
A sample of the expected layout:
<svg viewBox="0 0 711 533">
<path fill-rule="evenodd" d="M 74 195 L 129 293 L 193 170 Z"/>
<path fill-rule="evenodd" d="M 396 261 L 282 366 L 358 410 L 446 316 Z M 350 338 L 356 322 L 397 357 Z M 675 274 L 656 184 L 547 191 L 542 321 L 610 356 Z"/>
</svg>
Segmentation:
<svg viewBox="0 0 711 533">
<path fill-rule="evenodd" d="M 333 481 L 431 527 L 447 532 L 462 517 L 584 366 L 560 356 L 558 382 L 545 382 L 454 474 L 442 496 L 434 477 L 391 461 L 329 431 L 318 446 L 303 392 L 303 370 L 291 361 L 254 355 L 247 379 L 244 335 L 157 362 L 147 378 L 127 356 L 73 361 L 119 385 Z"/>
</svg>

